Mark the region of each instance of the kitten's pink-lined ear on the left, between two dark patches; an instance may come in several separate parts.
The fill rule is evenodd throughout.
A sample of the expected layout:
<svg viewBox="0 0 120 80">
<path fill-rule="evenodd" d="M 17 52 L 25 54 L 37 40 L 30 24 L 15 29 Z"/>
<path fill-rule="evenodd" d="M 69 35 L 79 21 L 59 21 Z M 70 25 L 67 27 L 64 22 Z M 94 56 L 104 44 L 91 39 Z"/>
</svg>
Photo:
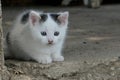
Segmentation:
<svg viewBox="0 0 120 80">
<path fill-rule="evenodd" d="M 41 19 L 41 17 L 39 16 L 39 13 L 35 12 L 35 11 L 31 11 L 30 12 L 30 23 L 34 26 L 35 23 L 39 22 L 39 20 Z"/>
</svg>

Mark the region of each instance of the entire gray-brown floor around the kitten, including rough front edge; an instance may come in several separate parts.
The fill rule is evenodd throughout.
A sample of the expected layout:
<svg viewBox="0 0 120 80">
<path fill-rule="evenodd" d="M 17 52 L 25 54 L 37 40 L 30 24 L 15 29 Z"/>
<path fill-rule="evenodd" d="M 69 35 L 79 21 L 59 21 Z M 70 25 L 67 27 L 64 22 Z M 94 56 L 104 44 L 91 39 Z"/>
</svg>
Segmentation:
<svg viewBox="0 0 120 80">
<path fill-rule="evenodd" d="M 64 62 L 43 65 L 31 61 L 6 60 L 8 76 L 3 80 L 120 80 L 120 5 L 98 9 L 85 7 L 3 8 L 4 35 L 20 12 L 69 11 Z"/>
</svg>

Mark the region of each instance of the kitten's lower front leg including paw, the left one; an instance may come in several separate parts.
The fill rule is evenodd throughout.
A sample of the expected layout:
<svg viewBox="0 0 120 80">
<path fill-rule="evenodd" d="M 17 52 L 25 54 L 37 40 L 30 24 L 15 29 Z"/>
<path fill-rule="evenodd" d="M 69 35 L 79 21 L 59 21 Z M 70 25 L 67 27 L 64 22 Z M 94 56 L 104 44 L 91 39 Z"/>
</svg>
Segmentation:
<svg viewBox="0 0 120 80">
<path fill-rule="evenodd" d="M 45 54 L 40 54 L 34 57 L 34 59 L 42 64 L 48 64 L 52 62 L 52 58 L 50 57 L 50 55 L 45 55 Z"/>
</svg>

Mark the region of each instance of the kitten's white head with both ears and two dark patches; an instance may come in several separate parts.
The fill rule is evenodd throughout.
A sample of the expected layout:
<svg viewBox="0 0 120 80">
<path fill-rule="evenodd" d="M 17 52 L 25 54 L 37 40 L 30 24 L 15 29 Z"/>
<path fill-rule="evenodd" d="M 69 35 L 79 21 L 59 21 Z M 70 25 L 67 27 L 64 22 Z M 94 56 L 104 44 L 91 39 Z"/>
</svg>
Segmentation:
<svg viewBox="0 0 120 80">
<path fill-rule="evenodd" d="M 28 22 L 35 39 L 43 44 L 56 44 L 66 35 L 68 12 L 39 13 L 29 12 Z"/>
</svg>

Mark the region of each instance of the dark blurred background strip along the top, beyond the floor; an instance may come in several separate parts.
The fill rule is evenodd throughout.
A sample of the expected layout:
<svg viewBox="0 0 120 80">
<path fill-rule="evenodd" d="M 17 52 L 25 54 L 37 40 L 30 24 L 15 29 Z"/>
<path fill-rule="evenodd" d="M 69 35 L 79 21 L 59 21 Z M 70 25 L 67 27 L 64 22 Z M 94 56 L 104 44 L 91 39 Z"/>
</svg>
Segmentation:
<svg viewBox="0 0 120 80">
<path fill-rule="evenodd" d="M 87 3 L 86 3 L 87 2 Z M 3 6 L 88 6 L 97 3 L 96 7 L 104 4 L 119 4 L 120 0 L 2 0 Z"/>
</svg>

